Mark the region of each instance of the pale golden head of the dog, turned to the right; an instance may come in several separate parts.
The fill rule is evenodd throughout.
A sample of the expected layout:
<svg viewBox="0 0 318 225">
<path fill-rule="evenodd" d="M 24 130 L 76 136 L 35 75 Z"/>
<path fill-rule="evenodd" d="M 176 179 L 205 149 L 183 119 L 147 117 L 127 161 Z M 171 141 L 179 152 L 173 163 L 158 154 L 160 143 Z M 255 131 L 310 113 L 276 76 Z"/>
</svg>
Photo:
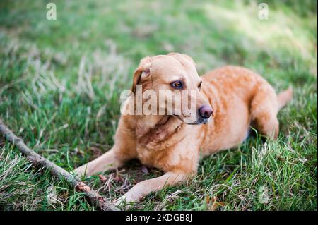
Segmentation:
<svg viewBox="0 0 318 225">
<path fill-rule="evenodd" d="M 131 91 L 136 94 L 142 88 L 142 107 L 150 106 L 152 114 L 173 115 L 184 123 L 201 124 L 208 123 L 213 113 L 201 93 L 202 85 L 192 58 L 170 53 L 142 59 L 134 72 Z"/>
</svg>

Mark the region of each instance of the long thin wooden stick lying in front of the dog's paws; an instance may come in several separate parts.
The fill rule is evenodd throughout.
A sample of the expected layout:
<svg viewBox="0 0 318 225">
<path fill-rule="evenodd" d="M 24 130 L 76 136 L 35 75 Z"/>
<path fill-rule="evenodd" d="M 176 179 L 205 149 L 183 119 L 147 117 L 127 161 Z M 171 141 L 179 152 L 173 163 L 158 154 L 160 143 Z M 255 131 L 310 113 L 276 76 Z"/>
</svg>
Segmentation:
<svg viewBox="0 0 318 225">
<path fill-rule="evenodd" d="M 51 174 L 58 179 L 65 179 L 76 191 L 83 193 L 88 201 L 99 207 L 103 211 L 118 211 L 119 209 L 112 205 L 112 203 L 105 200 L 105 197 L 102 197 L 95 190 L 92 190 L 89 186 L 87 186 L 80 178 L 75 175 L 70 174 L 65 169 L 57 166 L 53 162 L 45 159 L 45 157 L 41 157 L 40 154 L 37 154 L 33 150 L 31 150 L 28 146 L 26 146 L 21 138 L 18 138 L 4 123 L 2 123 L 0 119 L 0 133 L 4 135 L 4 138 L 11 142 L 13 145 L 18 147 L 18 150 L 25 154 L 28 159 L 35 166 L 44 167 L 49 169 Z"/>
</svg>

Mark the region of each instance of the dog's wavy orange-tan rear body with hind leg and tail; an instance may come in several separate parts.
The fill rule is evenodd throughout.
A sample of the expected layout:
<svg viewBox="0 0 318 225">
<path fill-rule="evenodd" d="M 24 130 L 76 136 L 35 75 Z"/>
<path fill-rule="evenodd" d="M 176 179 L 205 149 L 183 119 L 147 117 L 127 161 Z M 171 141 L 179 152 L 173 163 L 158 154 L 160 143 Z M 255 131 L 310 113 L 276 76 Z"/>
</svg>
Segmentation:
<svg viewBox="0 0 318 225">
<path fill-rule="evenodd" d="M 259 133 L 277 138 L 277 113 L 292 97 L 292 90 L 278 96 L 271 85 L 247 68 L 225 66 L 202 76 L 204 94 L 215 110 L 203 149 L 206 154 L 239 145 L 252 123 Z"/>
</svg>

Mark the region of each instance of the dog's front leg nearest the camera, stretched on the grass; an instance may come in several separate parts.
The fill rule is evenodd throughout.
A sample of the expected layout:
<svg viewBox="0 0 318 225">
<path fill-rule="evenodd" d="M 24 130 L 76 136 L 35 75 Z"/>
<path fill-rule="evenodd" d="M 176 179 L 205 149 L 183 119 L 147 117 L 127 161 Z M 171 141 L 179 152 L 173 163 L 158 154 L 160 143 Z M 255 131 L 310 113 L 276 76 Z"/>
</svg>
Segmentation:
<svg viewBox="0 0 318 225">
<path fill-rule="evenodd" d="M 132 202 L 139 202 L 146 195 L 153 191 L 162 189 L 165 186 L 175 186 L 177 183 L 185 181 L 187 174 L 180 172 L 167 172 L 163 176 L 153 178 L 137 183 L 125 195 L 114 201 L 114 205 L 120 205 L 122 202 L 127 204 Z"/>
</svg>

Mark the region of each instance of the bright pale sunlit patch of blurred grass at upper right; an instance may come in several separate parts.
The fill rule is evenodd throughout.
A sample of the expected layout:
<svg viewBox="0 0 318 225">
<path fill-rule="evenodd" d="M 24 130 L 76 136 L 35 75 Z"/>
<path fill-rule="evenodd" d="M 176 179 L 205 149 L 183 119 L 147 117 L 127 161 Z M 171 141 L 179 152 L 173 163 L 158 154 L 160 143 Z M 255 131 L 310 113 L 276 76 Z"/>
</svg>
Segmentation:
<svg viewBox="0 0 318 225">
<path fill-rule="evenodd" d="M 258 18 L 259 10 L 256 2 L 248 6 L 242 1 L 235 1 L 233 4 L 234 8 L 224 8 L 214 4 L 204 4 L 202 8 L 213 23 L 244 33 L 260 48 L 293 49 L 303 58 L 312 59 L 317 51 L 314 48 L 317 14 L 306 19 L 293 13 L 286 16 L 285 11 L 272 9 L 269 4 L 269 18 L 261 20 Z M 312 23 L 308 23 L 308 20 Z"/>
</svg>

